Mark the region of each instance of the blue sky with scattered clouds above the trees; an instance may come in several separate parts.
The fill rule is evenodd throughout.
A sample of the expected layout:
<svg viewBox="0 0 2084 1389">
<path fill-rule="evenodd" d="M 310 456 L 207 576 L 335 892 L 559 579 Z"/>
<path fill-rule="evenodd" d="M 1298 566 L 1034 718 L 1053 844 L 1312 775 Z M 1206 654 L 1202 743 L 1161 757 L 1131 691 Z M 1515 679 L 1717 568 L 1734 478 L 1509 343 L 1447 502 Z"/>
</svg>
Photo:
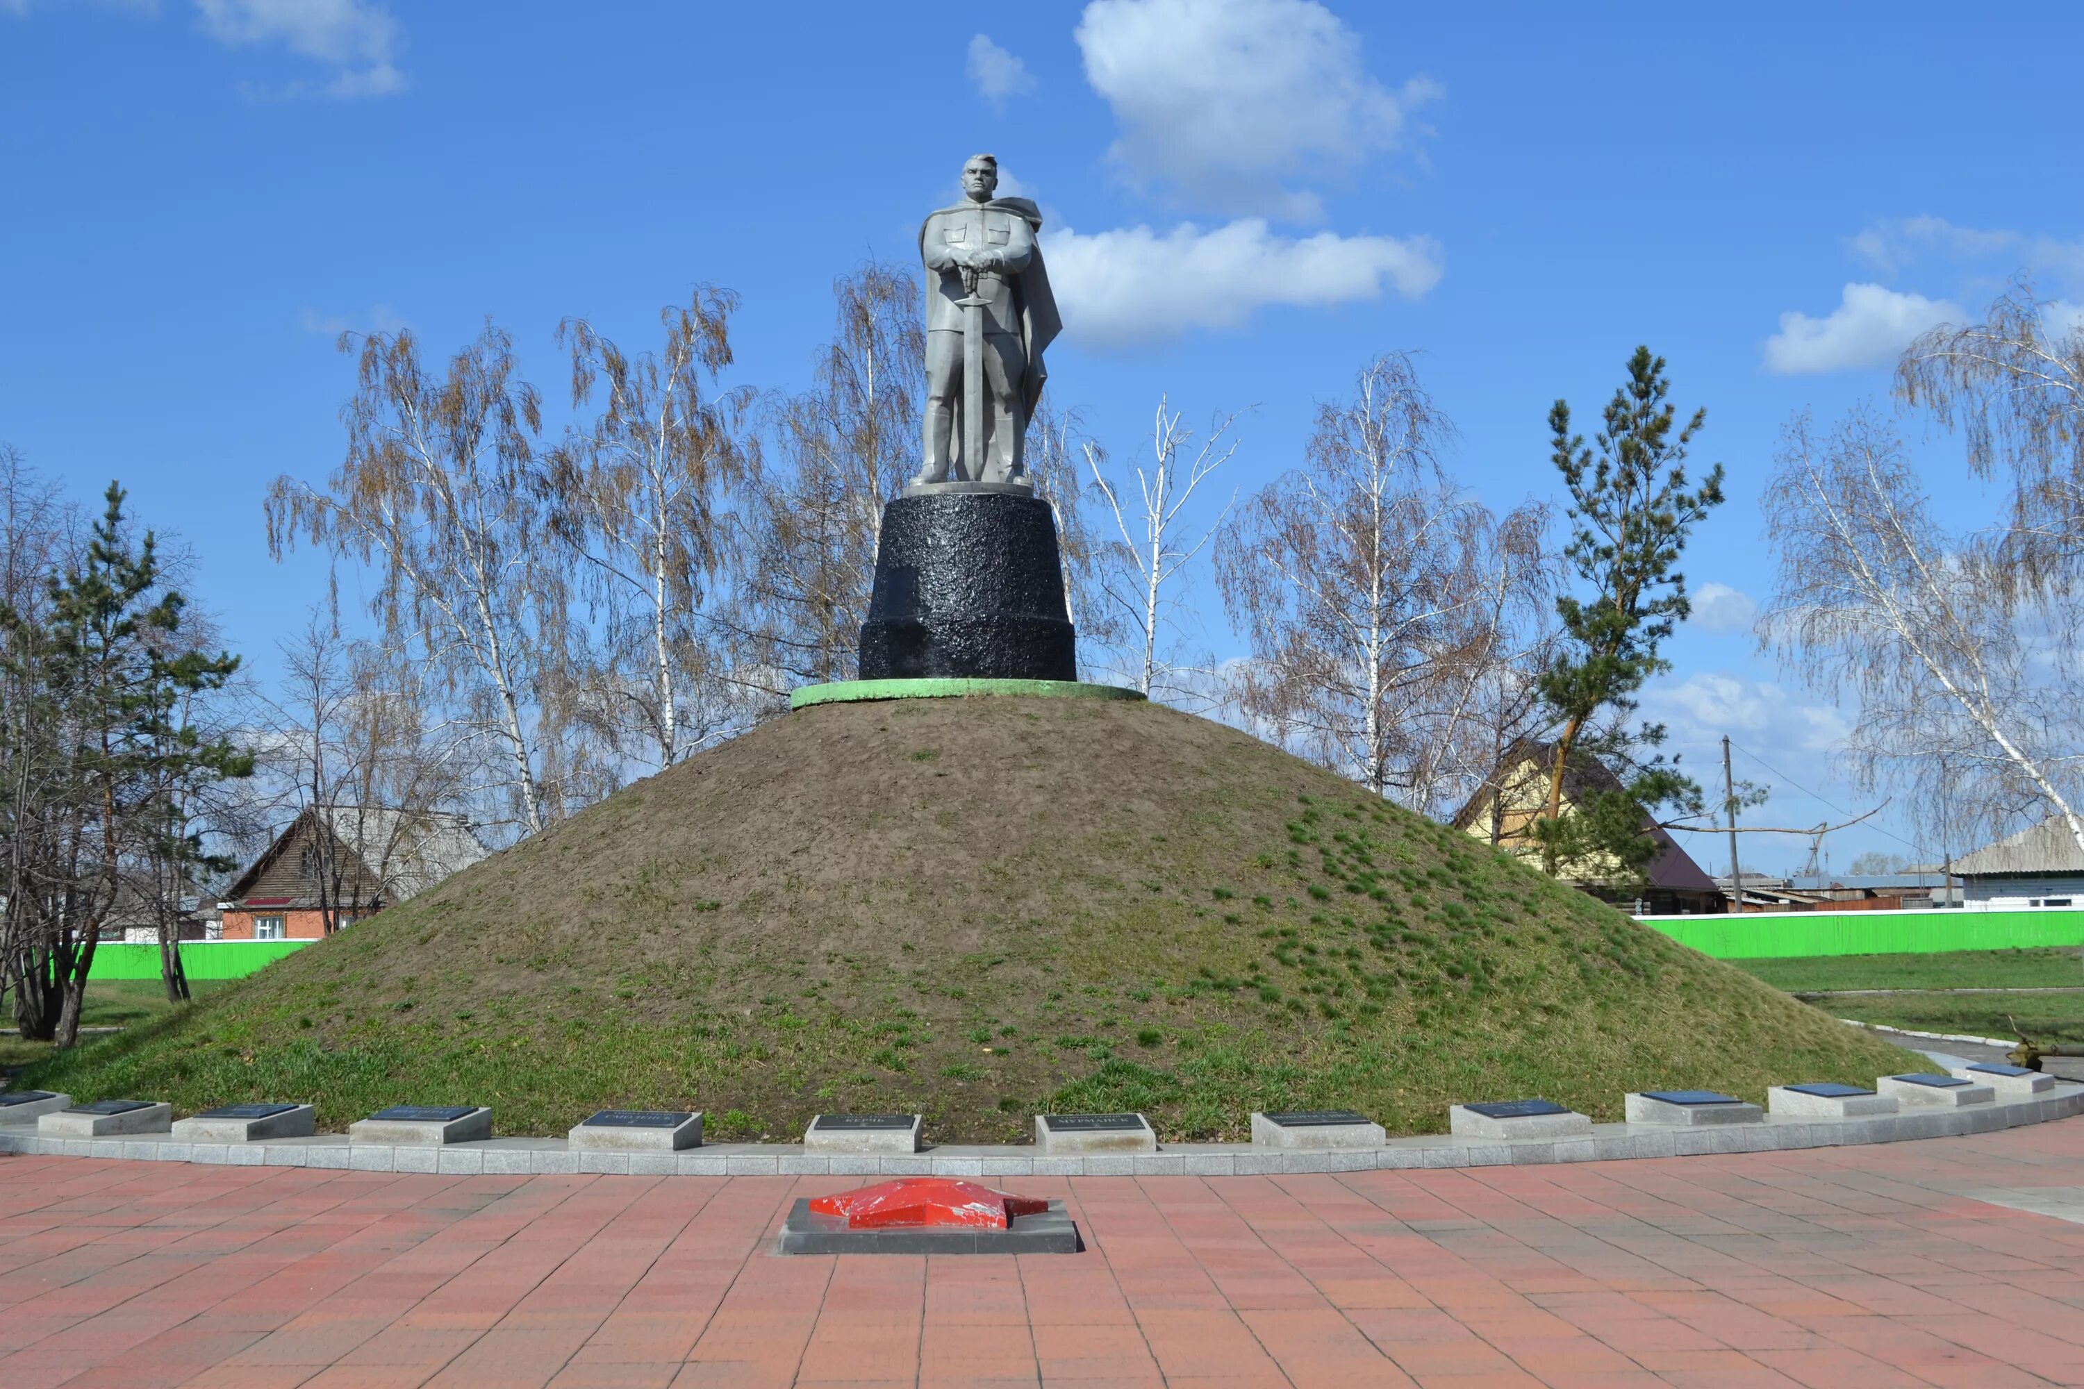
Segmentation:
<svg viewBox="0 0 2084 1389">
<path fill-rule="evenodd" d="M 1050 219 L 1050 392 L 1119 456 L 1161 392 L 1257 406 L 1250 489 L 1363 360 L 1415 348 L 1455 473 L 1509 506 L 1555 494 L 1557 396 L 1590 423 L 1638 342 L 1667 356 L 1732 500 L 1648 706 L 1690 760 L 1728 731 L 1853 806 L 1840 714 L 1753 650 L 1757 491 L 1790 410 L 1882 396 L 1911 333 L 2015 271 L 2084 302 L 2084 12 L 1736 15 L 0 0 L 0 439 L 83 496 L 121 477 L 267 675 L 325 564 L 267 558 L 260 498 L 338 462 L 340 329 L 446 352 L 492 314 L 556 400 L 561 317 L 636 346 L 715 281 L 744 296 L 736 379 L 798 387 L 832 279 L 909 258 L 994 150 Z M 1955 514 L 1988 510 L 1957 444 L 1924 456 Z M 1832 816 L 1740 775 L 1773 823 Z M 1909 852 L 1859 829 L 1832 860 L 1863 848 Z"/>
</svg>

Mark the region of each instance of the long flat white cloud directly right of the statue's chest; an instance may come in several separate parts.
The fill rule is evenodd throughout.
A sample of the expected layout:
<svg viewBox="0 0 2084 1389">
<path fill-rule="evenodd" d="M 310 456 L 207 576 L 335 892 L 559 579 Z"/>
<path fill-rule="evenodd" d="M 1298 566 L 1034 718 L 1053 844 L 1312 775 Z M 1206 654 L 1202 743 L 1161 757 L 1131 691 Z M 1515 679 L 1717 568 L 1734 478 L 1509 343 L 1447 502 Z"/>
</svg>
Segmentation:
<svg viewBox="0 0 2084 1389">
<path fill-rule="evenodd" d="M 1415 300 L 1440 281 L 1440 248 L 1430 237 L 1321 231 L 1294 239 L 1269 233 L 1261 219 L 1213 231 L 1184 223 L 1163 235 L 1150 227 L 1092 235 L 1065 227 L 1044 233 L 1042 246 L 1065 331 L 1088 348 L 1236 327 L 1271 304 L 1375 300 L 1384 281 Z"/>
</svg>

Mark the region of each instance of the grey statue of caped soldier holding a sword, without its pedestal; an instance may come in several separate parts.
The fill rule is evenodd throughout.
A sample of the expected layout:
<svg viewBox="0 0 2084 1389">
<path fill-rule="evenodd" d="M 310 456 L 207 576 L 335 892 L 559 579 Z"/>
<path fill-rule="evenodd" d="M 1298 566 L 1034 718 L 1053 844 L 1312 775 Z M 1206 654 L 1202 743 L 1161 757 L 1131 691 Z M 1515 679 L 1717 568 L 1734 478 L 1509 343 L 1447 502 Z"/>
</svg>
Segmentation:
<svg viewBox="0 0 2084 1389">
<path fill-rule="evenodd" d="M 1027 483 L 1027 419 L 1042 348 L 1063 327 L 1042 269 L 1042 212 L 994 198 L 998 160 L 963 165 L 965 202 L 919 229 L 925 296 L 925 466 L 913 485 Z"/>
</svg>

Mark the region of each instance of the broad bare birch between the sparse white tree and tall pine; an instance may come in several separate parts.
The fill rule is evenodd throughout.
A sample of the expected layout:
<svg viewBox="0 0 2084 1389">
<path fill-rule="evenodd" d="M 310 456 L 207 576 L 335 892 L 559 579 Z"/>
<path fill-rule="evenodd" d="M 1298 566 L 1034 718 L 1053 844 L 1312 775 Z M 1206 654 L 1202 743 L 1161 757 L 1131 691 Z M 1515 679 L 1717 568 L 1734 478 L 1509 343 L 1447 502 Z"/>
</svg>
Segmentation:
<svg viewBox="0 0 2084 1389">
<path fill-rule="evenodd" d="M 1538 508 L 1500 525 L 1463 496 L 1440 466 L 1450 439 L 1411 358 L 1380 356 L 1215 552 L 1252 650 L 1244 712 L 1421 810 L 1453 781 L 1542 577 Z"/>
</svg>

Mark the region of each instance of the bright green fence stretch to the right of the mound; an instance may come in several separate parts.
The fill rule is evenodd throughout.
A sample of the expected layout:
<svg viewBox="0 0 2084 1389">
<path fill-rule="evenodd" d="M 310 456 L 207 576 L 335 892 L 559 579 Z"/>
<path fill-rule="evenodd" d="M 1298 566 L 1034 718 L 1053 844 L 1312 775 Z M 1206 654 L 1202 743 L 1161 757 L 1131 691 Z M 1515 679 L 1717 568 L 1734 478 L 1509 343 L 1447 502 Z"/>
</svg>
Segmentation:
<svg viewBox="0 0 2084 1389">
<path fill-rule="evenodd" d="M 1638 916 L 1717 960 L 1790 956 L 1907 956 L 1944 950 L 2084 945 L 2084 908 L 2032 912 L 1744 912 L 1742 916 Z"/>
</svg>

